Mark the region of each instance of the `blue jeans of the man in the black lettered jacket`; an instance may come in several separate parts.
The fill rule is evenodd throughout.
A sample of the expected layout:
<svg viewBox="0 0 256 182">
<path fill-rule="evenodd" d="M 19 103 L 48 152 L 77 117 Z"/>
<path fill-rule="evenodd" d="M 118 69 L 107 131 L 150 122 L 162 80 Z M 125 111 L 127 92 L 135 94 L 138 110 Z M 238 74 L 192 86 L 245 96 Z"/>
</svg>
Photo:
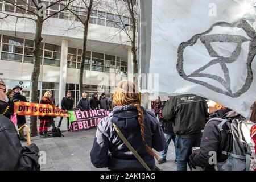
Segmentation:
<svg viewBox="0 0 256 182">
<path fill-rule="evenodd" d="M 201 137 L 181 138 L 177 137 L 177 148 L 179 158 L 177 162 L 177 171 L 187 171 L 188 158 L 192 153 L 192 147 L 200 147 Z"/>
</svg>

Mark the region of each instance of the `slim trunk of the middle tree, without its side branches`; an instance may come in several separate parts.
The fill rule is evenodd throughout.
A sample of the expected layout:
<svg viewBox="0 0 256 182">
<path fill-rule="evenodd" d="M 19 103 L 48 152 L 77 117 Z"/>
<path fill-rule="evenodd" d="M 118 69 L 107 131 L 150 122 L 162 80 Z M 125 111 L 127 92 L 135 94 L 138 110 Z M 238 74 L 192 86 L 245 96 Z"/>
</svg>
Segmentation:
<svg viewBox="0 0 256 182">
<path fill-rule="evenodd" d="M 79 75 L 79 95 L 80 98 L 82 98 L 82 92 L 83 90 L 83 82 L 84 82 L 84 62 L 86 59 L 86 45 L 87 45 L 87 37 L 88 37 L 88 25 L 90 20 L 90 14 L 92 13 L 92 5 L 93 0 L 90 0 L 90 4 L 88 6 L 88 12 L 87 12 L 87 18 L 84 22 L 84 42 L 82 43 L 82 60 L 81 60 L 81 66 L 80 66 L 80 75 Z"/>
</svg>

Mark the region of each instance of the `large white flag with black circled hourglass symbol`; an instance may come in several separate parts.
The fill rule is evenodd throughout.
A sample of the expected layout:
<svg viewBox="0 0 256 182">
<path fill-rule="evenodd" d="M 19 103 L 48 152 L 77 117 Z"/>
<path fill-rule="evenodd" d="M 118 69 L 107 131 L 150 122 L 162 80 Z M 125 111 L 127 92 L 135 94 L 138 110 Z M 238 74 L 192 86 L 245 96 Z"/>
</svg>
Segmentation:
<svg viewBox="0 0 256 182">
<path fill-rule="evenodd" d="M 141 7 L 142 20 L 148 13 L 152 20 L 141 22 L 141 35 L 148 25 L 151 35 L 141 42 L 151 40 L 151 51 L 143 71 L 159 73 L 158 90 L 198 94 L 248 117 L 256 100 L 254 2 L 144 0 L 141 6 L 147 3 L 152 11 Z"/>
</svg>

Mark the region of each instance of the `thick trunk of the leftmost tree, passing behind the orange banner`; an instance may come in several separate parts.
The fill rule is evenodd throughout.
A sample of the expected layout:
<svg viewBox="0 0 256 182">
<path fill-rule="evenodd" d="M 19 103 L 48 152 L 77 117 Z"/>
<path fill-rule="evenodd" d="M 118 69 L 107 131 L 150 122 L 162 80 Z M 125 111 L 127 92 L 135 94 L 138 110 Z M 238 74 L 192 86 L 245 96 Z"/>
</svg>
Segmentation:
<svg viewBox="0 0 256 182">
<path fill-rule="evenodd" d="M 36 19 L 36 33 L 34 39 L 34 50 L 33 50 L 33 60 L 34 60 L 34 67 L 31 76 L 31 102 L 37 103 L 38 102 L 38 78 L 40 74 L 40 46 L 43 40 L 42 38 L 42 27 L 43 27 L 43 17 L 38 16 Z M 38 127 L 37 127 L 37 117 L 30 118 L 30 130 L 32 137 L 38 135 Z"/>
</svg>

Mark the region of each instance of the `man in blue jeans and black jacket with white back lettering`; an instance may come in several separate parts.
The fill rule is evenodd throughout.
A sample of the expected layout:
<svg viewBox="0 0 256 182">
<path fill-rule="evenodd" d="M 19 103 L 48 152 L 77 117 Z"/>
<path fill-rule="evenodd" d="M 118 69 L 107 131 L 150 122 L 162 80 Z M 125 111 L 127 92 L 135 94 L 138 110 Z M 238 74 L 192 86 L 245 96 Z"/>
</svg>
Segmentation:
<svg viewBox="0 0 256 182">
<path fill-rule="evenodd" d="M 187 162 L 192 147 L 199 147 L 204 130 L 207 102 L 194 94 L 172 96 L 163 108 L 166 121 L 173 121 L 174 133 L 177 135 L 179 157 L 177 171 L 187 171 Z"/>
</svg>

